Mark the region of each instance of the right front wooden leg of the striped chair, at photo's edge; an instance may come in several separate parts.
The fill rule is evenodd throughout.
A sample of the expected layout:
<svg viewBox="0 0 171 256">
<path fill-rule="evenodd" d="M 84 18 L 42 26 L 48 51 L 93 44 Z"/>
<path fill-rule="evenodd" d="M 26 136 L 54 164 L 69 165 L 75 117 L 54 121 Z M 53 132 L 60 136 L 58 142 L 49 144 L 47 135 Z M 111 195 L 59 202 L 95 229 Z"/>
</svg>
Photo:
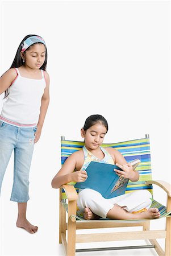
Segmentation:
<svg viewBox="0 0 171 256">
<path fill-rule="evenodd" d="M 170 196 L 168 196 L 167 201 L 167 212 L 169 210 L 171 210 Z M 171 256 L 171 217 L 166 217 L 165 256 Z"/>
</svg>

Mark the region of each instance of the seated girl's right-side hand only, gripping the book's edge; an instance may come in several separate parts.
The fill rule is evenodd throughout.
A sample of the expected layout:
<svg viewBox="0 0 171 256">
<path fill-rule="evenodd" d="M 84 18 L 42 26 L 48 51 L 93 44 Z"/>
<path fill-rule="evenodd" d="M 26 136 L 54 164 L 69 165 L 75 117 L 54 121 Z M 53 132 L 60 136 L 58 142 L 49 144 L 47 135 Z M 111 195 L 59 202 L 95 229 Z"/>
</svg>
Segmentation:
<svg viewBox="0 0 171 256">
<path fill-rule="evenodd" d="M 135 177 L 135 171 L 132 168 L 132 165 L 127 163 L 127 164 L 118 164 L 116 163 L 116 166 L 118 166 L 120 169 L 122 169 L 123 171 L 114 169 L 114 171 L 116 172 L 116 174 L 118 174 L 118 176 L 120 177 L 124 177 L 126 179 L 130 179 L 131 181 L 134 180 Z"/>
</svg>

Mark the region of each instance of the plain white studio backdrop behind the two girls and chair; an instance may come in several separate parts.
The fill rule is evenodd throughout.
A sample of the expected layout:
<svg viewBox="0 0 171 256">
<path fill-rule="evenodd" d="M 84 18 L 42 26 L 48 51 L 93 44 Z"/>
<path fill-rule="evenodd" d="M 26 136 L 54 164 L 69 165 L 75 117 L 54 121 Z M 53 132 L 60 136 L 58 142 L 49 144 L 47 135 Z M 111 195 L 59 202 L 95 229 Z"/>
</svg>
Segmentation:
<svg viewBox="0 0 171 256">
<path fill-rule="evenodd" d="M 30 175 L 27 217 L 39 232 L 15 228 L 11 158 L 1 193 L 1 255 L 64 255 L 51 180 L 60 169 L 60 136 L 81 140 L 91 114 L 107 119 L 106 143 L 149 133 L 153 179 L 170 180 L 169 19 L 170 1 L 1 1 L 1 75 L 24 36 L 37 34 L 47 43 L 51 77 L 51 103 Z M 165 204 L 156 187 L 155 197 Z"/>
</svg>

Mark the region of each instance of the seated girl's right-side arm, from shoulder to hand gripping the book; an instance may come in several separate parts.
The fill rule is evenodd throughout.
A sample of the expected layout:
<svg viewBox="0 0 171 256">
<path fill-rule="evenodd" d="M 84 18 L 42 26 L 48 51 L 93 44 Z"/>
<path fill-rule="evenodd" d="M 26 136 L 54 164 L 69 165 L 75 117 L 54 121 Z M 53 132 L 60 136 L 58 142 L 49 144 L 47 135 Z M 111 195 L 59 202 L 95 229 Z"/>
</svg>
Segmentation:
<svg viewBox="0 0 171 256">
<path fill-rule="evenodd" d="M 130 179 L 132 182 L 139 180 L 139 172 L 134 171 L 132 165 L 127 163 L 124 156 L 118 150 L 115 150 L 114 148 L 111 149 L 116 166 L 123 170 L 119 171 L 115 169 L 116 174 L 118 174 L 120 177 Z"/>
</svg>

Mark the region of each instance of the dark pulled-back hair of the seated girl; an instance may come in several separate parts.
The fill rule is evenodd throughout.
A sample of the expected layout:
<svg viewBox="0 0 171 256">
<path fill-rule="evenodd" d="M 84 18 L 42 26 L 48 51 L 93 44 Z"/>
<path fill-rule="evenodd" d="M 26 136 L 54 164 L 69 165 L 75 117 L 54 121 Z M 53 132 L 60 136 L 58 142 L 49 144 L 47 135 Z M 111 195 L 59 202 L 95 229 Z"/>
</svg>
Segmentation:
<svg viewBox="0 0 171 256">
<path fill-rule="evenodd" d="M 90 115 L 87 117 L 84 127 L 82 127 L 85 131 L 89 129 L 91 126 L 95 125 L 96 123 L 102 123 L 106 127 L 106 133 L 108 131 L 108 123 L 102 115 Z"/>
</svg>

